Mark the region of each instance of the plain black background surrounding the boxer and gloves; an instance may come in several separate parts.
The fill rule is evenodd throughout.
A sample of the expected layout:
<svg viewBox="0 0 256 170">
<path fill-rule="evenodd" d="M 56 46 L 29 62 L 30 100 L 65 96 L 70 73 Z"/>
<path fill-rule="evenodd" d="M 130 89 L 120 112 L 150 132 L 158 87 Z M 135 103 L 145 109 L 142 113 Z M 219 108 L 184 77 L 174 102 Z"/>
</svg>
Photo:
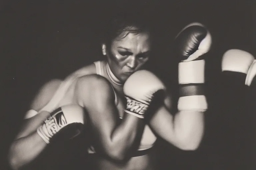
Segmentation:
<svg viewBox="0 0 256 170">
<path fill-rule="evenodd" d="M 102 23 L 123 8 L 151 13 L 157 39 L 148 66 L 169 85 L 177 75 L 171 49 L 175 35 L 191 22 L 205 24 L 212 34 L 212 48 L 206 55 L 209 111 L 205 137 L 195 152 L 181 151 L 159 141 L 157 156 L 161 166 L 168 167 L 166 169 L 255 169 L 251 160 L 252 117 L 243 110 L 246 100 L 228 101 L 222 96 L 226 87 L 221 79 L 223 53 L 238 48 L 256 56 L 253 13 L 256 5 L 242 0 L 2 1 L 4 165 L 7 165 L 9 144 L 39 87 L 52 78 L 64 78 L 99 60 Z M 173 88 L 175 91 L 175 86 Z M 235 98 L 245 97 L 243 92 L 238 93 L 241 90 L 240 87 L 234 90 Z M 229 107 L 233 109 L 227 109 Z"/>
</svg>

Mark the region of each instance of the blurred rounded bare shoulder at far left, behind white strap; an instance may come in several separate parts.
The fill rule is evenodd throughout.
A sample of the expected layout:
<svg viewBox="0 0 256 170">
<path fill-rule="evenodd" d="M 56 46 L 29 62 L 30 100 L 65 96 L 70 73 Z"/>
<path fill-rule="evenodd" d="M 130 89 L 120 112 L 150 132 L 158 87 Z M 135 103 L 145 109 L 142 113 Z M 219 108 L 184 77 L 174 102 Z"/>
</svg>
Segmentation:
<svg viewBox="0 0 256 170">
<path fill-rule="evenodd" d="M 34 97 L 31 103 L 31 109 L 36 111 L 42 109 L 51 100 L 61 82 L 62 80 L 60 79 L 52 79 L 45 83 Z"/>
</svg>

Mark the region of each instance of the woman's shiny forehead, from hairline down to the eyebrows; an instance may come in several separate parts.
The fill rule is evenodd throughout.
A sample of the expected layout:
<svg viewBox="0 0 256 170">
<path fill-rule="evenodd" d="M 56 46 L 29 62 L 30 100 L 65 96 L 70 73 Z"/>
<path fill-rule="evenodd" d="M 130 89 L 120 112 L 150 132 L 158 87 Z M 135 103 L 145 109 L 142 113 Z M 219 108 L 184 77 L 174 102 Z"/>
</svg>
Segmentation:
<svg viewBox="0 0 256 170">
<path fill-rule="evenodd" d="M 123 32 L 120 36 L 114 39 L 114 46 L 122 46 L 128 49 L 136 48 L 149 48 L 150 35 L 147 32 L 129 33 Z"/>
</svg>

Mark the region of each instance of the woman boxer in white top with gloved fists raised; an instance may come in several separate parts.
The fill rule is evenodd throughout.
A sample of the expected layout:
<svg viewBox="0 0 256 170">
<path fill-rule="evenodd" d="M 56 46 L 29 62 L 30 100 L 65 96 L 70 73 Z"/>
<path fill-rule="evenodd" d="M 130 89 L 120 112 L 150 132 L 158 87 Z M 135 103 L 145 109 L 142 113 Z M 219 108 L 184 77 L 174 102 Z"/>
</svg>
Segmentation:
<svg viewBox="0 0 256 170">
<path fill-rule="evenodd" d="M 81 125 L 85 124 L 84 112 L 92 131 L 88 152 L 93 157 L 94 169 L 156 169 L 152 149 L 157 136 L 180 149 L 194 150 L 198 147 L 203 135 L 202 113 L 206 110 L 206 102 L 203 93 L 196 94 L 198 91 L 194 89 L 198 87 L 189 83 L 201 83 L 202 86 L 202 78 L 198 76 L 203 73 L 191 73 L 195 68 L 202 72 L 202 62 L 196 62 L 192 67 L 191 64 L 180 66 L 181 70 L 183 67 L 188 70 L 182 74 L 189 75 L 180 76 L 180 84 L 185 84 L 181 91 L 188 94 L 181 94 L 175 118 L 170 114 L 171 97 L 165 93 L 163 104 L 151 119 L 143 119 L 147 117 L 154 92 L 166 91 L 154 74 L 138 71 L 150 56 L 151 37 L 146 26 L 139 17 L 119 15 L 106 28 L 102 43 L 105 60 L 79 69 L 64 81 L 53 80 L 41 88 L 25 116 L 24 127 L 10 147 L 9 162 L 13 169 L 33 161 L 53 139 L 78 135 Z M 205 28 L 200 24 L 187 28 L 185 35 L 180 33 L 179 36 L 189 37 L 188 34 L 199 32 L 201 37 L 196 37 L 197 46 L 192 50 L 205 48 L 200 47 L 208 35 Z M 180 45 L 187 47 L 185 43 L 189 44 L 189 41 L 177 43 L 184 42 Z M 197 50 L 186 52 L 183 57 L 189 60 L 191 52 L 196 53 Z M 193 56 L 190 58 L 194 59 Z M 133 104 L 140 107 L 134 108 Z"/>
</svg>

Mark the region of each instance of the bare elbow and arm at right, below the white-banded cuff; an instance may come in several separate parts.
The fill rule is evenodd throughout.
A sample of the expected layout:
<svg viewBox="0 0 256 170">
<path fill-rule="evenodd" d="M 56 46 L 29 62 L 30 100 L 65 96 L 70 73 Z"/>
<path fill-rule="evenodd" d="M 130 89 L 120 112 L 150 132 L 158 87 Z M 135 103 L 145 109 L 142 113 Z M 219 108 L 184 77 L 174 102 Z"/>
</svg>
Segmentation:
<svg viewBox="0 0 256 170">
<path fill-rule="evenodd" d="M 169 102 L 166 97 L 165 103 Z M 162 105 L 149 122 L 150 128 L 161 138 L 182 150 L 198 148 L 204 133 L 204 114 L 199 111 L 170 113 L 169 104 Z M 170 106 L 170 105 L 169 105 Z"/>
</svg>

